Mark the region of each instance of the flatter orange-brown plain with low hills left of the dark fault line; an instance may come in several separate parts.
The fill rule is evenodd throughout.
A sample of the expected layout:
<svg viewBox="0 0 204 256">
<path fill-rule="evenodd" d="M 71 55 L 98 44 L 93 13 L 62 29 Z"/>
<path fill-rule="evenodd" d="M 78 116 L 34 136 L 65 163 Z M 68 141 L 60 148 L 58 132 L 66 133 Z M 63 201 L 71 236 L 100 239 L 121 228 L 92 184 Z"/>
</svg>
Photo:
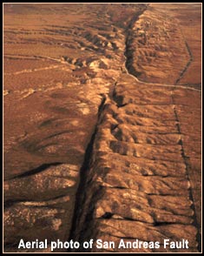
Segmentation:
<svg viewBox="0 0 204 256">
<path fill-rule="evenodd" d="M 117 8 L 132 17 L 144 6 Z M 17 248 L 20 239 L 69 239 L 84 155 L 121 74 L 125 35 L 103 4 L 4 7 L 3 242 L 6 252 L 30 252 Z"/>
</svg>

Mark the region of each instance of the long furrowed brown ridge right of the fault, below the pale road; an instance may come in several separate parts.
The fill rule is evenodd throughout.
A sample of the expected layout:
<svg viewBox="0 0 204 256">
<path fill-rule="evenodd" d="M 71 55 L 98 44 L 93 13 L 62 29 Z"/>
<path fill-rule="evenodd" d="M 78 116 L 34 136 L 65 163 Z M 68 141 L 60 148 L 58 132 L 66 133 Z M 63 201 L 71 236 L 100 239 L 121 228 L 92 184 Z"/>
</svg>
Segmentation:
<svg viewBox="0 0 204 256">
<path fill-rule="evenodd" d="M 201 222 L 194 195 L 198 197 L 201 186 L 194 189 L 194 177 L 201 178 L 201 173 L 194 175 L 188 163 L 194 135 L 182 131 L 188 111 L 180 112 L 184 97 L 185 108 L 200 109 L 200 102 L 191 101 L 192 94 L 199 97 L 198 92 L 120 78 L 98 120 L 91 159 L 82 174 L 84 193 L 79 194 L 72 238 L 161 243 L 159 250 L 128 250 L 143 253 L 177 252 L 164 248 L 163 240 L 188 239 L 190 251 L 197 252 Z M 199 116 L 191 115 L 192 122 Z M 115 246 L 111 251 L 122 250 Z M 95 245 L 89 251 L 106 252 L 106 248 Z"/>
</svg>

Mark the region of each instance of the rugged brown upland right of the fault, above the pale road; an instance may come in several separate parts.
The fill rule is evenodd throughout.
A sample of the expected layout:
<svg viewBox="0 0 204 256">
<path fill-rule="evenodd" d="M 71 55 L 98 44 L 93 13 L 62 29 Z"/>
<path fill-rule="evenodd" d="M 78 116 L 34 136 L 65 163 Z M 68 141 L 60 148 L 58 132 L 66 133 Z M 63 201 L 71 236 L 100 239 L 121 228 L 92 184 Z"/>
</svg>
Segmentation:
<svg viewBox="0 0 204 256">
<path fill-rule="evenodd" d="M 201 18 L 199 6 L 193 8 L 192 18 Z M 141 81 L 201 87 L 201 78 L 189 76 L 197 66 L 201 44 L 197 35 L 192 39 L 187 32 L 190 30 L 188 26 L 193 25 L 189 16 L 181 17 L 179 13 L 179 10 L 174 10 L 174 5 L 162 9 L 160 4 L 150 4 L 148 10 L 130 24 L 126 41 L 127 68 Z M 198 34 L 201 30 L 199 24 Z M 200 77 L 199 68 L 197 74 Z"/>
</svg>

